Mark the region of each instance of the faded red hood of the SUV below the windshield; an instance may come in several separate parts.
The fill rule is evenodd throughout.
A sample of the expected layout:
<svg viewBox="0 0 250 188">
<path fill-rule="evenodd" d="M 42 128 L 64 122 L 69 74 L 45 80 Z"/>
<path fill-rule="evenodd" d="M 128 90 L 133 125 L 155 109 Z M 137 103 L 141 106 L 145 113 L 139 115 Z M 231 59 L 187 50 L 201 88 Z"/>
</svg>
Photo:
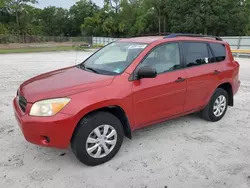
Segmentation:
<svg viewBox="0 0 250 188">
<path fill-rule="evenodd" d="M 68 67 L 41 74 L 24 82 L 20 94 L 30 103 L 42 99 L 66 97 L 109 85 L 114 76 L 100 75 Z"/>
</svg>

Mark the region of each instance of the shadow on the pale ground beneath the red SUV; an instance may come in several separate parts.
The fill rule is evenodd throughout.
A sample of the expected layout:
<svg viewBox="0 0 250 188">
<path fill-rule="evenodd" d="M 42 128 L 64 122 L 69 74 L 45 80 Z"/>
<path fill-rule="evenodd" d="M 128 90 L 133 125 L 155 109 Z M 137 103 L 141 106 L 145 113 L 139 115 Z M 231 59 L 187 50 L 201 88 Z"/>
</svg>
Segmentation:
<svg viewBox="0 0 250 188">
<path fill-rule="evenodd" d="M 157 140 L 157 135 L 159 134 L 165 134 L 167 136 L 168 132 L 170 131 L 181 132 L 182 128 L 185 126 L 193 126 L 193 128 L 196 129 L 197 126 L 200 125 L 200 123 L 202 122 L 204 123 L 204 120 L 200 118 L 200 114 L 193 113 L 187 116 L 175 118 L 152 126 L 138 129 L 132 133 L 131 140 L 128 138 L 124 138 L 123 145 L 113 160 L 123 160 L 124 155 L 133 154 L 133 151 L 130 150 L 131 147 L 135 148 L 142 144 L 146 144 L 145 140 L 147 140 L 148 142 L 152 139 Z M 48 148 L 29 144 L 28 148 L 30 148 L 30 155 L 33 155 L 36 160 L 49 163 L 58 163 L 59 166 L 64 166 L 65 168 L 68 165 L 73 168 L 82 168 L 82 166 L 88 168 L 88 166 L 82 164 L 80 161 L 77 160 L 70 147 L 68 149 L 60 150 L 56 148 Z M 28 148 L 25 147 L 23 149 L 25 151 Z M 106 164 L 109 163 L 110 162 Z"/>
</svg>

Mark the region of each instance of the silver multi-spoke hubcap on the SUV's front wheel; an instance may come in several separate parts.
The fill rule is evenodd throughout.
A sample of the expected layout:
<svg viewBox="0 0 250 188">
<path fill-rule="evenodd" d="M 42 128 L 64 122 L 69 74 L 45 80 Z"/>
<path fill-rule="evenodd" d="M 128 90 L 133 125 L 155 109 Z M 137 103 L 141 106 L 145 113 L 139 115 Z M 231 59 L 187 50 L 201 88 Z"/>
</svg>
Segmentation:
<svg viewBox="0 0 250 188">
<path fill-rule="evenodd" d="M 93 158 L 107 156 L 115 147 L 117 132 L 111 125 L 100 125 L 88 136 L 86 150 Z"/>
</svg>

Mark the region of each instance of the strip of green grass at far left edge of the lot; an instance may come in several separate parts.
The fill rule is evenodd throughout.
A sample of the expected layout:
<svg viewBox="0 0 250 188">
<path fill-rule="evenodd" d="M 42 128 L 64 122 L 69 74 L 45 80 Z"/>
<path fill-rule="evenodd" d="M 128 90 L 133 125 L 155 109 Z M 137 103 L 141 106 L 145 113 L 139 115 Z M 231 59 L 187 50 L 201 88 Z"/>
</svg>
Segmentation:
<svg viewBox="0 0 250 188">
<path fill-rule="evenodd" d="M 84 50 L 84 48 L 78 48 L 78 47 L 72 47 L 72 46 L 42 47 L 42 48 L 14 48 L 14 49 L 0 49 L 0 54 L 57 52 L 57 51 L 72 51 L 72 50 Z"/>
</svg>

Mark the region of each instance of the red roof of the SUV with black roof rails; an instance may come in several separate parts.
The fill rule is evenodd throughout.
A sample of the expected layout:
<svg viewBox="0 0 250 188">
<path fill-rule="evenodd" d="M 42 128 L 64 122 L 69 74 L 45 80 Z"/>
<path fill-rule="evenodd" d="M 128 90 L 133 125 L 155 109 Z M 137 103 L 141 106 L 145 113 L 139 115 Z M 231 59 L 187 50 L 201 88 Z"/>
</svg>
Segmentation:
<svg viewBox="0 0 250 188">
<path fill-rule="evenodd" d="M 186 37 L 179 36 L 173 38 L 164 38 L 165 36 L 147 36 L 147 37 L 133 37 L 133 38 L 124 38 L 120 39 L 119 42 L 132 42 L 132 43 L 145 43 L 150 44 L 155 41 L 164 40 L 164 41 L 202 41 L 202 42 L 215 42 L 225 44 L 223 41 L 215 40 L 213 38 L 203 38 L 203 37 Z"/>
</svg>

